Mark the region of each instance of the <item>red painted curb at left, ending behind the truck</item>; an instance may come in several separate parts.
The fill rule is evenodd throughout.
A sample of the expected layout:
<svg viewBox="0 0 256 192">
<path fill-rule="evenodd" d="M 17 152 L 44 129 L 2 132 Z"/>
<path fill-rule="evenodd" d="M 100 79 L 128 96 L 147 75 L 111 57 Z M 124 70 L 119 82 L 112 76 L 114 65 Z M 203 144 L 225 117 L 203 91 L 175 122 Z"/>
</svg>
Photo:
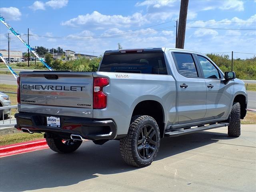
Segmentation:
<svg viewBox="0 0 256 192">
<path fill-rule="evenodd" d="M 0 146 L 0 157 L 16 155 L 20 153 L 32 152 L 49 148 L 46 140 L 29 141 L 11 145 Z"/>
</svg>

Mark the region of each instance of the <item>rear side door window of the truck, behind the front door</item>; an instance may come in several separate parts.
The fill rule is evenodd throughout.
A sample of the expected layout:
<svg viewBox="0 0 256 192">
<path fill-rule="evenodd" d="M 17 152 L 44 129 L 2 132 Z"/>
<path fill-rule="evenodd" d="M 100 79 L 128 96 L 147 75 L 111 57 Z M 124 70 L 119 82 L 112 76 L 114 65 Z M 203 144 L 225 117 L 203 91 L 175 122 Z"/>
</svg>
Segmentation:
<svg viewBox="0 0 256 192">
<path fill-rule="evenodd" d="M 192 54 L 174 53 L 178 72 L 185 77 L 198 77 L 196 64 Z"/>
</svg>

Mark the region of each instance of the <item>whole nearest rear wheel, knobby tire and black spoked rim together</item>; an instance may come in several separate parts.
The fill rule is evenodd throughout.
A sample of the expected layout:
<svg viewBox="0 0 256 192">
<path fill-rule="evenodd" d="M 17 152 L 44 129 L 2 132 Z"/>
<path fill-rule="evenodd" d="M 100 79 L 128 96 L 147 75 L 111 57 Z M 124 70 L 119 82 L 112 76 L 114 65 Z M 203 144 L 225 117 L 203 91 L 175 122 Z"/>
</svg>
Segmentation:
<svg viewBox="0 0 256 192">
<path fill-rule="evenodd" d="M 123 160 L 132 166 L 145 167 L 152 163 L 160 146 L 158 124 L 151 116 L 133 116 L 125 138 L 120 139 Z"/>
</svg>

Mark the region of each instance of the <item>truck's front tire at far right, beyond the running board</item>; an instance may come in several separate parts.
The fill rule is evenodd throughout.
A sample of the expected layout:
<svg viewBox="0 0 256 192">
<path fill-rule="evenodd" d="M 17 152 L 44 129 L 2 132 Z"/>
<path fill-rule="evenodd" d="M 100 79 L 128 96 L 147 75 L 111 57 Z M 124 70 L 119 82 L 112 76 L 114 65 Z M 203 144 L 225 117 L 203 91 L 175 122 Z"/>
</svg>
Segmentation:
<svg viewBox="0 0 256 192">
<path fill-rule="evenodd" d="M 230 124 L 228 126 L 228 136 L 239 137 L 241 134 L 240 103 L 234 102 L 230 113 Z"/>
</svg>

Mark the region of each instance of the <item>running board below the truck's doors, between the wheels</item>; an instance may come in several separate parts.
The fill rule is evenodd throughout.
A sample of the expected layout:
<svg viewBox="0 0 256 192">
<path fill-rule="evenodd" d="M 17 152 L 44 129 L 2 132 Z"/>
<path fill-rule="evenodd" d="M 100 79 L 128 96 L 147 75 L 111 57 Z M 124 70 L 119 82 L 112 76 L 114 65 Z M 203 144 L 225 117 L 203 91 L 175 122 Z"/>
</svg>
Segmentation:
<svg viewBox="0 0 256 192">
<path fill-rule="evenodd" d="M 186 135 L 190 133 L 196 133 L 208 129 L 214 129 L 214 128 L 219 128 L 219 127 L 225 127 L 228 126 L 229 123 L 217 123 L 217 124 L 211 124 L 207 126 L 201 126 L 197 128 L 190 128 L 190 129 L 185 129 L 185 130 L 178 130 L 178 131 L 169 131 L 164 134 L 165 137 L 177 137 L 180 135 Z"/>
</svg>

